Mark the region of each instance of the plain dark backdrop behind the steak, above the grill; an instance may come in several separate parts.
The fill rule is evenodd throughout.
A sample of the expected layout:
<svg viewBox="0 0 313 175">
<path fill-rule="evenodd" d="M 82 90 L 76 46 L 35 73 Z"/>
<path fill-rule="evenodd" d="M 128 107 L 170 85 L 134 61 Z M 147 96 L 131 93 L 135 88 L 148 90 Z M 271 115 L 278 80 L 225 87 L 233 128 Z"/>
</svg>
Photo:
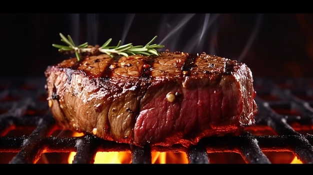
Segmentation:
<svg viewBox="0 0 313 175">
<path fill-rule="evenodd" d="M 237 59 L 246 63 L 254 76 L 313 76 L 312 14 L 222 13 L 206 17 L 210 26 L 200 44 L 193 47 L 205 14 L 1 13 L 0 73 L 43 77 L 46 66 L 69 56 L 51 46 L 63 44 L 60 32 L 71 35 L 77 45 L 85 41 L 101 45 L 108 38 L 113 39 L 112 44 L 122 40 L 144 45 L 155 35 L 154 43 L 160 43 L 185 22 L 161 43 L 165 48 Z M 127 23 L 129 30 L 124 35 Z"/>
</svg>

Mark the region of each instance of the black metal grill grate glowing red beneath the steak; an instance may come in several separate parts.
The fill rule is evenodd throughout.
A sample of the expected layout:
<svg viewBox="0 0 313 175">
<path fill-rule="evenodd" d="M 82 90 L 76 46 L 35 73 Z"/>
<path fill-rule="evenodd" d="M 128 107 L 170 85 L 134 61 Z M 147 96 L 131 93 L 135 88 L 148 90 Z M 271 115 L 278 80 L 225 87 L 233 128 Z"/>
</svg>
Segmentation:
<svg viewBox="0 0 313 175">
<path fill-rule="evenodd" d="M 67 163 L 70 152 L 76 152 L 73 164 L 92 164 L 97 152 L 112 151 L 130 153 L 132 164 L 151 164 L 152 152 L 182 152 L 189 164 L 274 164 L 293 158 L 313 163 L 313 79 L 255 77 L 255 125 L 240 136 L 207 137 L 190 148 L 139 148 L 92 135 L 73 137 L 49 112 L 45 79 L 9 77 L 0 82 L 2 164 Z"/>
</svg>

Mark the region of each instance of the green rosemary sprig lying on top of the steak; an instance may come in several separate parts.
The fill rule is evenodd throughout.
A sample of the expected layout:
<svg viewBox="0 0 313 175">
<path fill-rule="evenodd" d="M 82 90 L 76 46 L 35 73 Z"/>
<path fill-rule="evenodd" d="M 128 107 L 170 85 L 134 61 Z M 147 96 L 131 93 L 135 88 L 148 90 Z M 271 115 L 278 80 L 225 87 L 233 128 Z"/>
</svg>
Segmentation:
<svg viewBox="0 0 313 175">
<path fill-rule="evenodd" d="M 67 38 L 62 34 L 59 33 L 61 37 L 61 41 L 64 42 L 67 45 L 59 45 L 59 44 L 52 44 L 53 47 L 58 48 L 59 52 L 64 51 L 74 51 L 77 60 L 80 60 L 80 53 L 82 52 L 90 52 L 92 48 L 87 48 L 88 43 L 85 42 L 83 44 L 80 44 L 76 46 L 71 39 L 69 35 L 67 35 Z M 154 36 L 147 44 L 143 45 L 136 45 L 133 46 L 132 43 L 128 44 L 121 44 L 121 41 L 119 40 L 116 46 L 108 46 L 110 42 L 112 41 L 112 38 L 109 38 L 101 47 L 98 48 L 98 50 L 102 53 L 108 54 L 111 57 L 113 57 L 113 54 L 128 56 L 128 55 L 160 55 L 157 52 L 157 48 L 162 48 L 164 45 L 160 44 L 151 44 L 157 36 Z"/>
</svg>

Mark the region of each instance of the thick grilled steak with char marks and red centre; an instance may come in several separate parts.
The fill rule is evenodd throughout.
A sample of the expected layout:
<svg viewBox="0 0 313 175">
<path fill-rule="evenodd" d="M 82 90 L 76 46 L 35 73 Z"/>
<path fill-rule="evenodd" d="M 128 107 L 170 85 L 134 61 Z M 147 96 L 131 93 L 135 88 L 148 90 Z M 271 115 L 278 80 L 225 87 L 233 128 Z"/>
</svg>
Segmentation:
<svg viewBox="0 0 313 175">
<path fill-rule="evenodd" d="M 196 144 L 254 123 L 250 69 L 215 55 L 64 60 L 48 66 L 48 104 L 68 129 L 136 146 Z"/>
</svg>

